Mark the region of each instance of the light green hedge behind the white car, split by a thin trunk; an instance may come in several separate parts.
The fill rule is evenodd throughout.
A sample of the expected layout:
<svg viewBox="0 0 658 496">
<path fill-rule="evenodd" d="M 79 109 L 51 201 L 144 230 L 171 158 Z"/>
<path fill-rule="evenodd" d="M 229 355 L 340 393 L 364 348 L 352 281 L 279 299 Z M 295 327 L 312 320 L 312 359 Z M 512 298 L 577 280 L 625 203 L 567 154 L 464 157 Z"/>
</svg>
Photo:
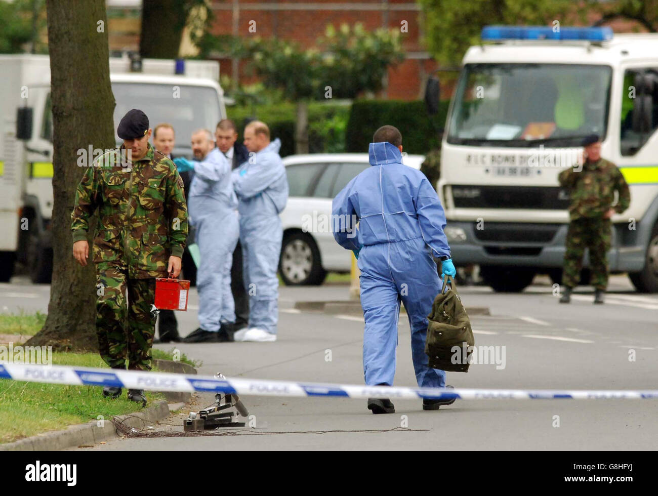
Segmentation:
<svg viewBox="0 0 658 496">
<path fill-rule="evenodd" d="M 345 151 L 345 128 L 349 118 L 349 105 L 309 104 L 309 151 L 311 153 L 341 153 Z M 282 157 L 295 153 L 295 116 L 293 103 L 277 105 L 234 106 L 226 109 L 228 117 L 239 128 L 240 138 L 246 118 L 258 118 L 270 127 L 272 138 L 281 139 Z"/>
</svg>

